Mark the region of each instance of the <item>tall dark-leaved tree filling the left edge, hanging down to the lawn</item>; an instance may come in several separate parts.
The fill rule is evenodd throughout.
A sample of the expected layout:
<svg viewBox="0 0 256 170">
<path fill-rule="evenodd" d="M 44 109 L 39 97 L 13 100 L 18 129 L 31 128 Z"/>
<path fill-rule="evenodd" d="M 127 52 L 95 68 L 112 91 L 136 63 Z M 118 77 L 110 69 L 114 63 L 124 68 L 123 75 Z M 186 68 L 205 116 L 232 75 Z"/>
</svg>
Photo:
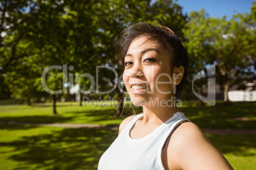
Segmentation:
<svg viewBox="0 0 256 170">
<path fill-rule="evenodd" d="M 15 98 L 27 101 L 38 98 L 39 93 L 34 86 L 35 76 L 40 74 L 31 69 L 31 61 L 36 48 L 27 39 L 31 30 L 27 25 L 31 16 L 29 9 L 35 5 L 31 1 L 1 1 L 0 20 L 0 77 L 3 84 L 10 89 Z"/>
</svg>

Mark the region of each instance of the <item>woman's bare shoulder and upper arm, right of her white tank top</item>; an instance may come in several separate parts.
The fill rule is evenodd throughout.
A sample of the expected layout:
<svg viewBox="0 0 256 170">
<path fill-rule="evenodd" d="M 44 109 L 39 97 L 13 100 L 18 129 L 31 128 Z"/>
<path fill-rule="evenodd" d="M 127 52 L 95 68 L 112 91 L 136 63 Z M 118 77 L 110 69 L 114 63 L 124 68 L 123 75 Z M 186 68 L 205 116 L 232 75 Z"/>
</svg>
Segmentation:
<svg viewBox="0 0 256 170">
<path fill-rule="evenodd" d="M 176 165 L 179 169 L 232 169 L 224 155 L 192 122 L 183 123 L 174 131 L 166 152 L 168 167 Z"/>
</svg>

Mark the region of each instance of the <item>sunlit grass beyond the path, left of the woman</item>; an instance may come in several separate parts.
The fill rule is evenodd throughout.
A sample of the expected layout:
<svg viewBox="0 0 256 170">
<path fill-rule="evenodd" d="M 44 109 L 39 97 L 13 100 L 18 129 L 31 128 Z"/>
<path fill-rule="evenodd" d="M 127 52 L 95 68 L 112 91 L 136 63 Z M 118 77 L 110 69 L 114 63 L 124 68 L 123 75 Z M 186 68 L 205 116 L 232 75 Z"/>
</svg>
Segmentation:
<svg viewBox="0 0 256 170">
<path fill-rule="evenodd" d="M 120 124 L 122 118 L 115 116 L 115 108 L 80 107 L 77 102 L 65 102 L 57 103 L 58 114 L 52 115 L 50 103 L 32 106 L 4 105 L 0 107 L 0 122 Z"/>
</svg>

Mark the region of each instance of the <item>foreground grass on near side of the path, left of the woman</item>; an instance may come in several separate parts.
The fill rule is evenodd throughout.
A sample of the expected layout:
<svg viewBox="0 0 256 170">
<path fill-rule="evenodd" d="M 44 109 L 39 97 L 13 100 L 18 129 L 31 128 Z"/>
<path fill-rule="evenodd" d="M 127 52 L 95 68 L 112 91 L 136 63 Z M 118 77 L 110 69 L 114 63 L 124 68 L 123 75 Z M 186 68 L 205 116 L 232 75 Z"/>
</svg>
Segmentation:
<svg viewBox="0 0 256 170">
<path fill-rule="evenodd" d="M 105 129 L 1 125 L 0 169 L 97 169 L 117 137 Z"/>
</svg>

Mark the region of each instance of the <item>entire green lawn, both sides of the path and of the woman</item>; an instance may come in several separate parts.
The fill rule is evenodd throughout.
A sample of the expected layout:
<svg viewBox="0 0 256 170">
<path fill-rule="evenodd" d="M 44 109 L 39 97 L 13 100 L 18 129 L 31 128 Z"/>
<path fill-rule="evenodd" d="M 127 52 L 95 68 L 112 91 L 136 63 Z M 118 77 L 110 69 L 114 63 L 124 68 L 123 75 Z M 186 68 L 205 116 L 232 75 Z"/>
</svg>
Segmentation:
<svg viewBox="0 0 256 170">
<path fill-rule="evenodd" d="M 0 106 L 0 122 L 119 124 L 115 107 L 96 110 L 77 103 L 58 103 L 58 115 L 52 115 L 50 103 Z M 184 102 L 181 111 L 201 128 L 256 129 L 255 102 L 226 106 L 196 107 Z M 128 108 L 127 108 L 128 109 Z M 244 117 L 246 121 L 234 118 Z M 0 124 L 0 169 L 97 169 L 104 150 L 116 138 L 117 131 L 106 129 L 69 129 L 31 125 Z M 207 134 L 211 142 L 235 169 L 256 168 L 256 136 Z"/>
</svg>

